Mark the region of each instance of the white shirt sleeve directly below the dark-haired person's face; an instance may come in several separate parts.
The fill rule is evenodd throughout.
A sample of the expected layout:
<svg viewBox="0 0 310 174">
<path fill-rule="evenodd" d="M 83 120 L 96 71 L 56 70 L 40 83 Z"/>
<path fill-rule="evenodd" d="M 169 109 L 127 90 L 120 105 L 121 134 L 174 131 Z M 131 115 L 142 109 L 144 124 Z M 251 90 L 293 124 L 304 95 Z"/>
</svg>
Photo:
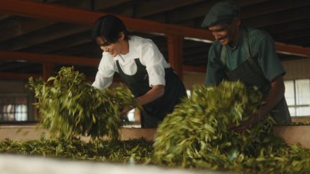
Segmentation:
<svg viewBox="0 0 310 174">
<path fill-rule="evenodd" d="M 115 70 L 113 57 L 103 54 L 99 63 L 96 78 L 92 83 L 92 86 L 96 87 L 97 89 L 104 89 L 109 87 L 113 82 L 114 73 Z"/>
</svg>

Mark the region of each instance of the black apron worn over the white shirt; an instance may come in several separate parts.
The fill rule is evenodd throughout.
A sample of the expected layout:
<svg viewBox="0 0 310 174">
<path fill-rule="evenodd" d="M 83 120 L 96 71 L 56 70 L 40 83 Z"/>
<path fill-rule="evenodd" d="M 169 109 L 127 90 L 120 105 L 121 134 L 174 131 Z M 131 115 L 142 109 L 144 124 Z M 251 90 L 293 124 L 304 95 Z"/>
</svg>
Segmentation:
<svg viewBox="0 0 310 174">
<path fill-rule="evenodd" d="M 116 61 L 120 78 L 135 97 L 140 97 L 147 93 L 151 87 L 149 87 L 147 67 L 142 65 L 139 58 L 135 58 L 135 63 L 137 65 L 137 73 L 126 75 L 122 68 L 120 68 L 120 63 Z M 180 103 L 182 97 L 186 97 L 185 86 L 180 77 L 173 72 L 172 68 L 165 68 L 165 80 L 166 85 L 163 96 L 142 106 L 142 128 L 156 128 L 163 118 L 173 111 L 175 105 Z"/>
</svg>

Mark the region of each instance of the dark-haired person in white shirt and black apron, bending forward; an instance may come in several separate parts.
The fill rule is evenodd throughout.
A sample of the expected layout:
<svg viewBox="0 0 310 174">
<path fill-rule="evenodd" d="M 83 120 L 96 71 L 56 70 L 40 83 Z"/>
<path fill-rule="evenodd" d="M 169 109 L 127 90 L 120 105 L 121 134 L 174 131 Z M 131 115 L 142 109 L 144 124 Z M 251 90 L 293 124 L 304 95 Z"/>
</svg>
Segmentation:
<svg viewBox="0 0 310 174">
<path fill-rule="evenodd" d="M 131 36 L 122 20 L 104 15 L 92 27 L 92 40 L 104 51 L 92 86 L 109 87 L 114 73 L 142 105 L 142 128 L 156 128 L 186 89 L 151 39 Z"/>
</svg>

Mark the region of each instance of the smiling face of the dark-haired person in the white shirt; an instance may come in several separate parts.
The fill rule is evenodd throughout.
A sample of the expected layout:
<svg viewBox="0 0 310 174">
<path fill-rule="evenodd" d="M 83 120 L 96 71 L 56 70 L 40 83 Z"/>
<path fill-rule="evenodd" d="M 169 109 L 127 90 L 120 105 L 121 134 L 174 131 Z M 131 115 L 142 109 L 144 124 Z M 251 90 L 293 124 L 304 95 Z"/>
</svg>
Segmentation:
<svg viewBox="0 0 310 174">
<path fill-rule="evenodd" d="M 100 46 L 100 49 L 104 52 L 109 53 L 111 56 L 115 57 L 122 51 L 122 45 L 120 42 L 109 43 L 101 37 L 97 37 L 97 44 Z"/>
</svg>

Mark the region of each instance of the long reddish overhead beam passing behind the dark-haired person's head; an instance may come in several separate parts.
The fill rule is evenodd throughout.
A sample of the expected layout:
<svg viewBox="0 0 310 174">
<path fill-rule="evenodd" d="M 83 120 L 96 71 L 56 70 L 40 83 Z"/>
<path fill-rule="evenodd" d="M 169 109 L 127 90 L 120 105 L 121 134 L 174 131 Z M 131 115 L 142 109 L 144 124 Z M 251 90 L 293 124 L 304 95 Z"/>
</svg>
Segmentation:
<svg viewBox="0 0 310 174">
<path fill-rule="evenodd" d="M 0 11 L 2 13 L 28 15 L 35 18 L 62 21 L 67 23 L 79 23 L 92 25 L 99 17 L 107 13 L 83 11 L 77 8 L 65 6 L 53 6 L 32 1 L 1 0 Z M 68 15 L 70 14 L 70 15 Z M 199 39 L 213 40 L 213 36 L 206 30 L 198 30 L 170 24 L 156 23 L 149 20 L 120 17 L 130 30 L 142 32 L 157 32 L 161 34 L 184 35 Z"/>
</svg>

